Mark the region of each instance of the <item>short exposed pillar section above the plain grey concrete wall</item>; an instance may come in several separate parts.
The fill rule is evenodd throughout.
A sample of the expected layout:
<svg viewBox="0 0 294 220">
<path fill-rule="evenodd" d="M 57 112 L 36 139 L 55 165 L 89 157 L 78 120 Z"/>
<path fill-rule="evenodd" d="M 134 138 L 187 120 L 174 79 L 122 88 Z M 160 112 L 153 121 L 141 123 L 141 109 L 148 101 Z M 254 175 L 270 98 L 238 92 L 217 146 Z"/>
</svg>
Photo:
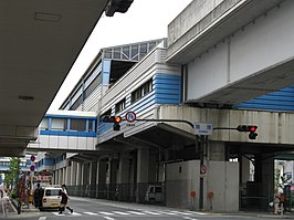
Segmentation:
<svg viewBox="0 0 294 220">
<path fill-rule="evenodd" d="M 208 146 L 209 160 L 225 161 L 225 144 L 221 142 L 210 142 Z"/>
</svg>

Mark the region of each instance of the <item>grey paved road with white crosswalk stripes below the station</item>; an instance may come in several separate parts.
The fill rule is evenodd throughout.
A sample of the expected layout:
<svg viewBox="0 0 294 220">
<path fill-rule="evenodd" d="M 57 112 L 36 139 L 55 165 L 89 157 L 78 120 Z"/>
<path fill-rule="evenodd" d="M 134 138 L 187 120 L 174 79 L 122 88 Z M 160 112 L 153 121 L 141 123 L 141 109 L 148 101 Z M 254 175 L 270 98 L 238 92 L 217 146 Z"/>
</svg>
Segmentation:
<svg viewBox="0 0 294 220">
<path fill-rule="evenodd" d="M 132 205 L 124 202 L 113 202 L 96 199 L 72 198 L 70 203 L 74 209 L 59 214 L 57 210 L 46 210 L 43 212 L 23 212 L 20 216 L 11 216 L 7 219 L 25 220 L 240 220 L 240 219 L 281 219 L 274 216 L 261 214 L 224 214 L 197 212 L 166 207 Z M 0 217 L 1 218 L 1 217 Z"/>
</svg>

